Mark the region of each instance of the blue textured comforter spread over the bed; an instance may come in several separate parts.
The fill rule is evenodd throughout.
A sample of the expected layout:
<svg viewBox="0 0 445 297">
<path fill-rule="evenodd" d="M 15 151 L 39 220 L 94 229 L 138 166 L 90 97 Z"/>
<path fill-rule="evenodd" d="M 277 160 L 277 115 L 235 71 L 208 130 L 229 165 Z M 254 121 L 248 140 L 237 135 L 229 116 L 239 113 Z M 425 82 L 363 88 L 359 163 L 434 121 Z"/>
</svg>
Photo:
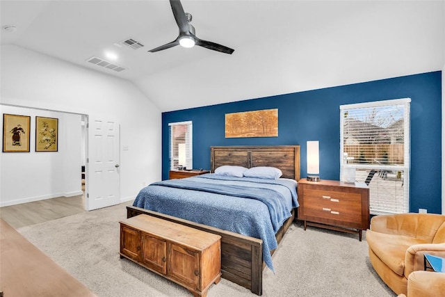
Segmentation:
<svg viewBox="0 0 445 297">
<path fill-rule="evenodd" d="M 273 270 L 275 232 L 298 201 L 296 181 L 291 179 L 207 174 L 151 184 L 133 206 L 262 239 L 264 262 Z"/>
</svg>

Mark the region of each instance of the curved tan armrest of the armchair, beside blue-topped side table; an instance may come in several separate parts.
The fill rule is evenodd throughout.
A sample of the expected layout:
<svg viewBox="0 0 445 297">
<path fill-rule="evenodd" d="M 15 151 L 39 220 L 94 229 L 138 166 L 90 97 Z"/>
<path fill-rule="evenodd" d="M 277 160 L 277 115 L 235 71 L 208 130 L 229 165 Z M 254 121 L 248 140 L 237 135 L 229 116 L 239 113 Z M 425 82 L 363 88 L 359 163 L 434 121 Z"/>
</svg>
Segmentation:
<svg viewBox="0 0 445 297">
<path fill-rule="evenodd" d="M 445 243 L 423 243 L 410 246 L 405 254 L 405 278 L 413 271 L 423 271 L 423 255 L 430 254 L 445 257 Z"/>
</svg>

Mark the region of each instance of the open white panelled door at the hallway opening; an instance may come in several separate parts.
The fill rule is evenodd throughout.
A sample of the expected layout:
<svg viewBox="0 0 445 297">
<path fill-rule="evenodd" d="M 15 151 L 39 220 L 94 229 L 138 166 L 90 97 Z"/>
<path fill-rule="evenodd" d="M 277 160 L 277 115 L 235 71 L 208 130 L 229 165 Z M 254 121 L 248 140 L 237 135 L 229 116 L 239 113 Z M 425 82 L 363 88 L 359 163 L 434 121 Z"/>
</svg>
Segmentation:
<svg viewBox="0 0 445 297">
<path fill-rule="evenodd" d="M 86 210 L 120 203 L 119 124 L 91 119 L 88 125 Z"/>
</svg>

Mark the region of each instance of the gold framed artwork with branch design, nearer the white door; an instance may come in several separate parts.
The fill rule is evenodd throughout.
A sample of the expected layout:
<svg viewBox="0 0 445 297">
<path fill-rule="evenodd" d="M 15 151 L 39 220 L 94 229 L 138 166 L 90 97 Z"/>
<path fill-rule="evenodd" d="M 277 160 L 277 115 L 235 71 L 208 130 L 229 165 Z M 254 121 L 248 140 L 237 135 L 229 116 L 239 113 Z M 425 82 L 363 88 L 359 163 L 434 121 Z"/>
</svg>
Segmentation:
<svg viewBox="0 0 445 297">
<path fill-rule="evenodd" d="M 57 152 L 58 119 L 35 117 L 35 152 Z"/>
</svg>

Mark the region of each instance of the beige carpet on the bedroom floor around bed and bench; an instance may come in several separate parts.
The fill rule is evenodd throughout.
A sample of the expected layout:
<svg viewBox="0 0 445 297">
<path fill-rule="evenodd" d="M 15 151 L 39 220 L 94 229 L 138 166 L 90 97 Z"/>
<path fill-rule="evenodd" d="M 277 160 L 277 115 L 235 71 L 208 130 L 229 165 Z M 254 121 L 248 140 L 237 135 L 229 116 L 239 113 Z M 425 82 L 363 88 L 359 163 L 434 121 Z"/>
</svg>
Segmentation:
<svg viewBox="0 0 445 297">
<path fill-rule="evenodd" d="M 120 204 L 19 228 L 29 241 L 101 297 L 192 296 L 186 289 L 120 259 Z M 273 255 L 275 273 L 263 273 L 263 296 L 396 296 L 373 271 L 366 234 L 294 223 Z M 222 279 L 207 296 L 256 296 Z"/>
</svg>

